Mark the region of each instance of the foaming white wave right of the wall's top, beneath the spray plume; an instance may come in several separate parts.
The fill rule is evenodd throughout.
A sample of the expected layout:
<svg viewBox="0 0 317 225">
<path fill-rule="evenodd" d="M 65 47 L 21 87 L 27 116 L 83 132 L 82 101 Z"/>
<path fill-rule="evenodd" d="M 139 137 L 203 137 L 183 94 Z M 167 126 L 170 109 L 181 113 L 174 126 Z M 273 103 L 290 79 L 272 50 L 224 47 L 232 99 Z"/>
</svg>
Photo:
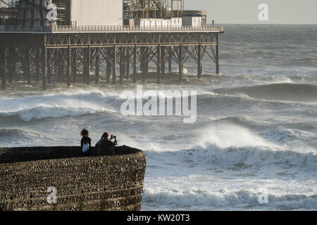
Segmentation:
<svg viewBox="0 0 317 225">
<path fill-rule="evenodd" d="M 294 150 L 276 150 L 269 147 L 228 147 L 220 148 L 212 143 L 187 150 L 165 153 L 149 152 L 149 158 L 156 162 L 178 159 L 183 165 L 210 167 L 218 166 L 225 169 L 249 169 L 251 167 L 307 167 L 317 169 L 316 153 L 300 153 Z M 172 161 L 171 161 L 172 162 Z"/>
</svg>

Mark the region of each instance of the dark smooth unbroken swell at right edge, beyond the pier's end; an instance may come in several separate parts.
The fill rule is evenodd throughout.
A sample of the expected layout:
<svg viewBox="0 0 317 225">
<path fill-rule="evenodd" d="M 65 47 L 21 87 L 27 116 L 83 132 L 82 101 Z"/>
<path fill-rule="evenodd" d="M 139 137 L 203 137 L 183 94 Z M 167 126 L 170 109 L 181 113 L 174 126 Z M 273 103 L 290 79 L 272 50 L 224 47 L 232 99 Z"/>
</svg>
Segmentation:
<svg viewBox="0 0 317 225">
<path fill-rule="evenodd" d="M 216 89 L 213 92 L 216 94 L 246 95 L 251 98 L 271 101 L 317 102 L 316 84 L 266 84 L 234 89 Z"/>
</svg>

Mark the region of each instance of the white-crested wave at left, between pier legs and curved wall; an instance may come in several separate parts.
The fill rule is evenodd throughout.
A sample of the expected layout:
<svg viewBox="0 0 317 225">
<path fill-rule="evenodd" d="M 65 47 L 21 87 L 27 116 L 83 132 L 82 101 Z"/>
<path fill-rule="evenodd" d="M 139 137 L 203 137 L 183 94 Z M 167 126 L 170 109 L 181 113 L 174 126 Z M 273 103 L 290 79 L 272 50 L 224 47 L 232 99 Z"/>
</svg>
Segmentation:
<svg viewBox="0 0 317 225">
<path fill-rule="evenodd" d="M 102 91 L 8 98 L 0 103 L 1 109 L 6 109 L 0 112 L 0 117 L 18 116 L 21 120 L 30 122 L 45 118 L 116 112 L 113 108 L 120 105 L 122 101 L 123 99 L 119 96 L 106 95 Z"/>
</svg>

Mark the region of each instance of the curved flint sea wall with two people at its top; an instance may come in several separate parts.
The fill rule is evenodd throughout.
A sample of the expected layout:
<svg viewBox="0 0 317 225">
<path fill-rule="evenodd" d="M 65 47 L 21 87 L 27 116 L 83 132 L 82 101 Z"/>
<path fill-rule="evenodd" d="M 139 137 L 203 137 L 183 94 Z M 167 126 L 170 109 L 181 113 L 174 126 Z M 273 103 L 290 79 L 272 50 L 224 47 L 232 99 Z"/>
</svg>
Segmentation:
<svg viewBox="0 0 317 225">
<path fill-rule="evenodd" d="M 0 148 L 0 210 L 141 210 L 142 150 L 120 146 L 115 155 L 97 156 L 92 148 L 90 157 L 80 150 Z M 49 187 L 57 203 L 49 204 Z"/>
</svg>

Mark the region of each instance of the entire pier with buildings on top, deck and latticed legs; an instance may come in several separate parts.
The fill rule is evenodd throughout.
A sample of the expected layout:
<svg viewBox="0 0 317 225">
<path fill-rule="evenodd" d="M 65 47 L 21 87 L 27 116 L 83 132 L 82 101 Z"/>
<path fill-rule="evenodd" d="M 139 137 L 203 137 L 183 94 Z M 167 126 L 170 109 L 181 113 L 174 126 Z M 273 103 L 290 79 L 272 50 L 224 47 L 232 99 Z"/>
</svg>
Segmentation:
<svg viewBox="0 0 317 225">
<path fill-rule="evenodd" d="M 146 82 L 149 64 L 156 67 L 157 84 L 170 75 L 182 82 L 188 60 L 197 63 L 201 78 L 205 57 L 219 74 L 224 28 L 208 25 L 206 11 L 185 11 L 183 0 L 10 0 L 5 5 L 0 8 L 2 89 L 16 81 L 42 82 L 43 90 L 52 83 L 98 84 L 104 77 L 112 84 Z M 173 65 L 178 72 L 172 74 Z"/>
</svg>

